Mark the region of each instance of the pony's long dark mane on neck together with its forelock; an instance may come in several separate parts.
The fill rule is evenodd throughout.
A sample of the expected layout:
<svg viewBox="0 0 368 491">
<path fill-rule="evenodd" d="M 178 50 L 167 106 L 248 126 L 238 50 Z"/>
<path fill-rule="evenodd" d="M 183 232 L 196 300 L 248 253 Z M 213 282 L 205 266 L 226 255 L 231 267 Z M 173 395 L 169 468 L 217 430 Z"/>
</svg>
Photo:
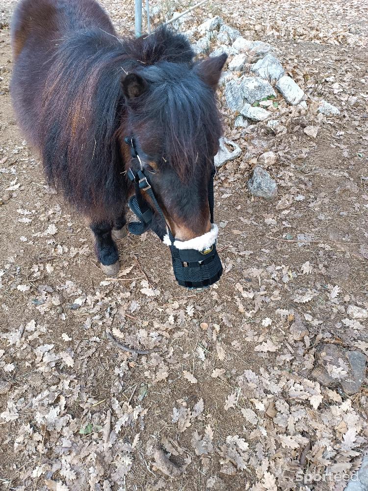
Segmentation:
<svg viewBox="0 0 368 491">
<path fill-rule="evenodd" d="M 93 29 L 63 41 L 45 62 L 50 69 L 40 141 L 46 142 L 43 162 L 49 183 L 81 211 L 122 211 L 127 183 L 117 134 L 126 115 L 121 77 L 130 72 L 152 82 L 149 103 L 139 116 L 168 129 L 170 164 L 181 175 L 189 174 L 193 143 L 202 141 L 203 146 L 206 135 L 210 140 L 220 136 L 210 88 L 199 77 L 194 87 L 188 75 L 193 57 L 186 38 L 167 28 L 138 39 Z"/>
</svg>

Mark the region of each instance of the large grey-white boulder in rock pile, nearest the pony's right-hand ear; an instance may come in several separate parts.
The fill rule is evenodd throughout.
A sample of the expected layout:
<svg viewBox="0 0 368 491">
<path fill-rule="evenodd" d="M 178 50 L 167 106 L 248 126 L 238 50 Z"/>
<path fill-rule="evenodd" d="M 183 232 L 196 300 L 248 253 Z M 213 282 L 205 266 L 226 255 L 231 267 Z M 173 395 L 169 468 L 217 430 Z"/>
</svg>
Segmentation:
<svg viewBox="0 0 368 491">
<path fill-rule="evenodd" d="M 243 76 L 230 80 L 225 86 L 226 103 L 232 111 L 240 112 L 245 103 L 254 104 L 269 96 L 276 96 L 272 85 L 257 77 Z"/>
</svg>

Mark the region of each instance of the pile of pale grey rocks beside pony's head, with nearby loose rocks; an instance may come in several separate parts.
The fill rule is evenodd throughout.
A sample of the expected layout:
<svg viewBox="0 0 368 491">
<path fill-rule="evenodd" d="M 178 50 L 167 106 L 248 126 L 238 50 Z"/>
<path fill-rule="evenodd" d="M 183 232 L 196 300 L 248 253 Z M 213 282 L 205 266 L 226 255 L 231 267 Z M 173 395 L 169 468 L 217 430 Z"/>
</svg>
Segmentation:
<svg viewBox="0 0 368 491">
<path fill-rule="evenodd" d="M 186 16 L 178 19 L 177 27 L 182 31 L 188 20 Z M 270 44 L 246 39 L 239 30 L 226 25 L 219 16 L 184 31 L 184 34 L 197 55 L 228 55 L 227 70 L 223 72 L 220 84 L 224 87 L 226 105 L 234 115 L 234 128 L 251 133 L 254 125 L 264 122 L 275 134 L 286 131 L 277 120 L 280 99 L 302 114 L 308 109 L 307 95 L 286 73 L 276 56 L 276 50 Z M 326 101 L 320 102 L 318 112 L 325 116 L 340 114 L 338 108 Z M 241 148 L 237 143 L 223 138 L 215 165 L 219 167 L 240 155 Z M 272 160 L 276 161 L 273 155 Z M 275 197 L 277 184 L 263 168 L 270 168 L 270 165 L 262 164 L 262 156 L 257 164 L 248 181 L 249 191 L 255 196 Z"/>
</svg>

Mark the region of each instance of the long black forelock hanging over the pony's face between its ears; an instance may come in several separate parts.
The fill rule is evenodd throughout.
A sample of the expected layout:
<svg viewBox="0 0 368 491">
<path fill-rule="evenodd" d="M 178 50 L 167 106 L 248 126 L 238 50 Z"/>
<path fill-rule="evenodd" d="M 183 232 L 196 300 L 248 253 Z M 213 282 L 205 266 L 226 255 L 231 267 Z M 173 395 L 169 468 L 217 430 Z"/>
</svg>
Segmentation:
<svg viewBox="0 0 368 491">
<path fill-rule="evenodd" d="M 139 73 L 148 90 L 132 108 L 132 120 L 156 128 L 167 163 L 187 181 L 209 164 L 221 136 L 214 92 L 183 63 L 159 62 Z"/>
</svg>

